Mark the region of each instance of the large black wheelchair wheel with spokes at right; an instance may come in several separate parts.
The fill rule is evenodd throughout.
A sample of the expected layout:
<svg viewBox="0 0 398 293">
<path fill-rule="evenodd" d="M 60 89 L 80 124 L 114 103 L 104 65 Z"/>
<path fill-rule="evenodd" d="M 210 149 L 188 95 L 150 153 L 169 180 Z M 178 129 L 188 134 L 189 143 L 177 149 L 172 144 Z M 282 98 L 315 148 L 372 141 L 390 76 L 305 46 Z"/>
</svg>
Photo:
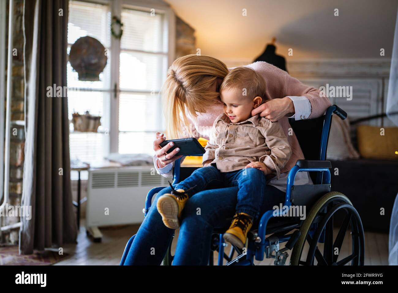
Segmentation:
<svg viewBox="0 0 398 293">
<path fill-rule="evenodd" d="M 334 216 L 343 216 L 334 237 Z M 341 246 L 350 227 L 351 239 L 345 256 Z M 291 265 L 363 265 L 365 258 L 365 237 L 361 218 L 351 201 L 342 193 L 332 191 L 321 197 L 310 209 L 300 227 L 300 237 L 293 248 Z M 349 244 L 351 240 L 351 245 Z M 348 246 L 347 246 L 348 243 Z M 323 246 L 323 254 L 320 251 Z M 351 253 L 350 253 L 351 251 Z"/>
</svg>

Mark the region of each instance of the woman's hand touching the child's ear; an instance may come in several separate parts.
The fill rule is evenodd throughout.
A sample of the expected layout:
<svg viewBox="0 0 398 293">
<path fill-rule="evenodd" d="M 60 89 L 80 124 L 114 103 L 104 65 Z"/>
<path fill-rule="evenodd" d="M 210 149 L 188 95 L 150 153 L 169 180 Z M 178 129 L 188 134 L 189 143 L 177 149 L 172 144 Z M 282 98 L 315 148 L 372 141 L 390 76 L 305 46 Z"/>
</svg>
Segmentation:
<svg viewBox="0 0 398 293">
<path fill-rule="evenodd" d="M 278 121 L 285 117 L 288 113 L 295 113 L 295 106 L 289 97 L 281 99 L 272 99 L 265 101 L 264 104 L 259 105 L 256 109 L 252 110 L 252 116 L 260 113 L 261 117 L 265 117 L 271 122 Z"/>
</svg>

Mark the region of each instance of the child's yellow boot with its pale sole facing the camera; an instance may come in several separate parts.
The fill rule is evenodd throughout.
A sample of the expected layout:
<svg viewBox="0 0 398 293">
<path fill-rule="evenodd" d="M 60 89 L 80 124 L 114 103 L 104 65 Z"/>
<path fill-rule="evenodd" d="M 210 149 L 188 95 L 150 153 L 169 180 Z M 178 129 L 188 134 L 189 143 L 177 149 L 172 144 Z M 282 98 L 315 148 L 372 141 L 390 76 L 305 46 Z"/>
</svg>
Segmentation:
<svg viewBox="0 0 398 293">
<path fill-rule="evenodd" d="M 156 208 L 162 216 L 162 221 L 166 227 L 178 229 L 182 209 L 185 207 L 189 197 L 184 189 L 175 190 L 173 187 L 172 189 L 171 193 L 166 193 L 158 198 Z"/>
</svg>

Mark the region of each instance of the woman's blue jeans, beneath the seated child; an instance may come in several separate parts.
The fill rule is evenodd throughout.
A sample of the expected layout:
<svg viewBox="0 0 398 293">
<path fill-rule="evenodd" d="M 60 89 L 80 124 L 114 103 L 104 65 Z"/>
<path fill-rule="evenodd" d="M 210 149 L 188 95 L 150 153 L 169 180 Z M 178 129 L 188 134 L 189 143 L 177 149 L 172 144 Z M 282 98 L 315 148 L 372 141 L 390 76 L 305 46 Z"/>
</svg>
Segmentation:
<svg viewBox="0 0 398 293">
<path fill-rule="evenodd" d="M 176 186 L 176 185 L 175 185 Z M 174 187 L 175 187 L 174 186 Z M 237 205 L 238 186 L 212 189 L 212 183 L 203 190 L 195 190 L 186 203 L 173 265 L 207 265 L 214 228 L 229 227 Z M 171 192 L 162 189 L 155 197 L 142 222 L 127 255 L 125 265 L 160 265 L 173 239 L 174 230 L 167 228 L 156 209 L 158 198 Z M 266 185 L 259 213 L 262 215 L 285 200 L 285 193 Z"/>
</svg>

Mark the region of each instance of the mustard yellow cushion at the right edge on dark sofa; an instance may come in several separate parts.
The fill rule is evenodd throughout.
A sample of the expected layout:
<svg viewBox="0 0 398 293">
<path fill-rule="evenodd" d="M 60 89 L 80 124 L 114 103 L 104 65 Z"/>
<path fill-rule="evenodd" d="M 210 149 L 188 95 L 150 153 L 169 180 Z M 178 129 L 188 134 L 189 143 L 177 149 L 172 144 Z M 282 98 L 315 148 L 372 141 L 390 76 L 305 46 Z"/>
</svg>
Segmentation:
<svg viewBox="0 0 398 293">
<path fill-rule="evenodd" d="M 383 129 L 384 135 L 380 135 Z M 363 158 L 398 159 L 398 127 L 359 125 L 357 137 Z"/>
</svg>

